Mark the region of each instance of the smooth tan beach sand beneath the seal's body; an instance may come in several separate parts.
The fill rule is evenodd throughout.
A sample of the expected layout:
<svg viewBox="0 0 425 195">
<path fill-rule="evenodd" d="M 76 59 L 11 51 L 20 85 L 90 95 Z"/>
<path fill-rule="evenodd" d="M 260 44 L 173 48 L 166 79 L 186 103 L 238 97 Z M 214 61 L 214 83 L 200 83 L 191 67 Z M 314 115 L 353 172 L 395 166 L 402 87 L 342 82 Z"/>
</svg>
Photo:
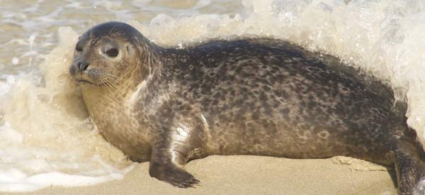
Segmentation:
<svg viewBox="0 0 425 195">
<path fill-rule="evenodd" d="M 201 184 L 179 189 L 159 182 L 142 163 L 125 179 L 64 188 L 52 186 L 15 194 L 396 194 L 395 172 L 346 157 L 293 160 L 278 157 L 210 156 L 189 162 L 186 169 Z"/>
</svg>

